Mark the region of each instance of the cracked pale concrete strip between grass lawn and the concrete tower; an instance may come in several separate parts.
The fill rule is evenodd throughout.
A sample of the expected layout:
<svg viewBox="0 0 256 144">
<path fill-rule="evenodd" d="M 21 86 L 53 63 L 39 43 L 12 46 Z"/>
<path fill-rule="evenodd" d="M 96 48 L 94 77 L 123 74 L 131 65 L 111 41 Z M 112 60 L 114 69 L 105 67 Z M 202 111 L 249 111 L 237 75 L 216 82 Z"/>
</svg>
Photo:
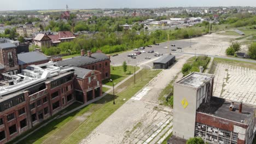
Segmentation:
<svg viewBox="0 0 256 144">
<path fill-rule="evenodd" d="M 182 56 L 170 69 L 162 71 L 81 143 L 157 143 L 172 126 L 172 110 L 159 105 L 158 95 L 189 57 Z"/>
</svg>

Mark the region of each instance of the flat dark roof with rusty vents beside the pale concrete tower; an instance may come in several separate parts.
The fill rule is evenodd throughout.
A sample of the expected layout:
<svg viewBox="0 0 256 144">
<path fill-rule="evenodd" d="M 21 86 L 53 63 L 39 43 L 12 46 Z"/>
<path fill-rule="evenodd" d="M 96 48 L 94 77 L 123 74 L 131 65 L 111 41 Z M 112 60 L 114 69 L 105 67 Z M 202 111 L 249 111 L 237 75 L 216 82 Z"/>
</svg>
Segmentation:
<svg viewBox="0 0 256 144">
<path fill-rule="evenodd" d="M 209 103 L 203 103 L 197 109 L 198 112 L 207 113 L 213 116 L 229 119 L 235 122 L 249 122 L 254 116 L 255 108 L 246 104 L 242 104 L 242 113 L 238 112 L 239 104 L 234 103 L 233 111 L 229 110 L 231 101 L 222 98 L 212 97 Z"/>
</svg>

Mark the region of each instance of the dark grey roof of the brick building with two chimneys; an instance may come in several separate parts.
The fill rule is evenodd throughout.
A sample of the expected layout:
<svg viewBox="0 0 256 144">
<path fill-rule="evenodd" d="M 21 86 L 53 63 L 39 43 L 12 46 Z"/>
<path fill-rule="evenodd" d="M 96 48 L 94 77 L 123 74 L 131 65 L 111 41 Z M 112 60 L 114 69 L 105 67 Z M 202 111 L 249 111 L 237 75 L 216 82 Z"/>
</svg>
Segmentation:
<svg viewBox="0 0 256 144">
<path fill-rule="evenodd" d="M 109 57 L 101 52 L 92 53 L 91 57 L 88 56 L 78 56 L 69 59 L 64 59 L 62 61 L 57 62 L 58 66 L 65 66 L 65 65 L 73 65 L 75 67 L 81 67 L 83 65 L 88 65 L 92 63 L 97 63 L 101 61 L 108 60 Z"/>
</svg>

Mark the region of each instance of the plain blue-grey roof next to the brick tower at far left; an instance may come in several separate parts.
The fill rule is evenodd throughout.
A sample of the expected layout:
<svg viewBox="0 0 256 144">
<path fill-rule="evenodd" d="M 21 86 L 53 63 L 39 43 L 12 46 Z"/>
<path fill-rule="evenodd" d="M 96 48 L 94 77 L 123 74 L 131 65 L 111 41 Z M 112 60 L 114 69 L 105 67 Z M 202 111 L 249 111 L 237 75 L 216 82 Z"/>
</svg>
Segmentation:
<svg viewBox="0 0 256 144">
<path fill-rule="evenodd" d="M 27 63 L 34 63 L 45 61 L 48 58 L 41 52 L 33 51 L 33 52 L 25 52 L 18 54 L 18 63 L 19 65 L 27 64 Z"/>
</svg>

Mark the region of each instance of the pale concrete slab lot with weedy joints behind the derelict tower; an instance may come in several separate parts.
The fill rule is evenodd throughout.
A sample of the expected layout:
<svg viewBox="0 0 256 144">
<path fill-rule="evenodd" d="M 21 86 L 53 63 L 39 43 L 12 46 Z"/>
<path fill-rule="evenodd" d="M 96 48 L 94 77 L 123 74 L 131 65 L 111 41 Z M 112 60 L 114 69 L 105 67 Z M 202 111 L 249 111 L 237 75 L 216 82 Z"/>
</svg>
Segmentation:
<svg viewBox="0 0 256 144">
<path fill-rule="evenodd" d="M 256 104 L 256 70 L 218 63 L 214 74 L 214 96 Z"/>
</svg>

